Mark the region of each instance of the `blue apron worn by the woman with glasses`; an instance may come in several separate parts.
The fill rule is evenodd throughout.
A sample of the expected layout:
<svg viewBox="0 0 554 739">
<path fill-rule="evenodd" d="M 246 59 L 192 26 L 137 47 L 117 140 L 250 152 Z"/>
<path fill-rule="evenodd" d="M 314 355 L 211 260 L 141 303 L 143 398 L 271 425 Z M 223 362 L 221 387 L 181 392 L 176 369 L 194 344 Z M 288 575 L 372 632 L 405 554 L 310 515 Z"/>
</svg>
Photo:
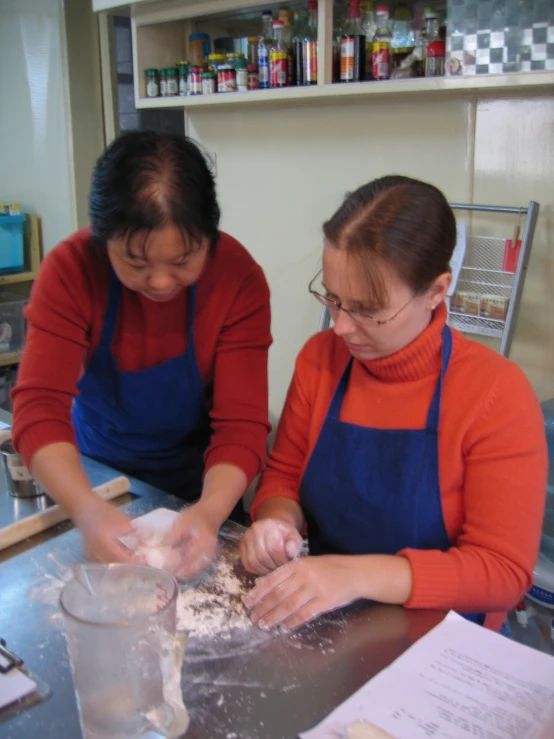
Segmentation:
<svg viewBox="0 0 554 739">
<path fill-rule="evenodd" d="M 452 333 L 443 329 L 440 376 L 423 429 L 377 429 L 339 420 L 348 362 L 300 486 L 311 554 L 396 554 L 450 541 L 439 481 L 438 428 Z M 465 615 L 465 614 L 464 614 Z M 466 615 L 482 624 L 484 614 Z"/>
</svg>

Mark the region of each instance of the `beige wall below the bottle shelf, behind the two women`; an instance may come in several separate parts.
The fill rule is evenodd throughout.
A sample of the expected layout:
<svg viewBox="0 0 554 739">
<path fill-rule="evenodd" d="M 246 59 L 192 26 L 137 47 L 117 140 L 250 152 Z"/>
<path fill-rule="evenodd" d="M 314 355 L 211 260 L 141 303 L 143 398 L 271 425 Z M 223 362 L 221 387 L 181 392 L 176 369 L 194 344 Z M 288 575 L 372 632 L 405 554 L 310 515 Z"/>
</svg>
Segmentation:
<svg viewBox="0 0 554 739">
<path fill-rule="evenodd" d="M 554 396 L 553 97 L 436 96 L 187 118 L 188 133 L 217 155 L 222 226 L 261 263 L 271 287 L 274 416 L 295 357 L 317 329 L 307 285 L 319 268 L 321 224 L 345 191 L 391 173 L 428 180 L 450 201 L 541 204 L 512 357 L 541 399 Z"/>
</svg>

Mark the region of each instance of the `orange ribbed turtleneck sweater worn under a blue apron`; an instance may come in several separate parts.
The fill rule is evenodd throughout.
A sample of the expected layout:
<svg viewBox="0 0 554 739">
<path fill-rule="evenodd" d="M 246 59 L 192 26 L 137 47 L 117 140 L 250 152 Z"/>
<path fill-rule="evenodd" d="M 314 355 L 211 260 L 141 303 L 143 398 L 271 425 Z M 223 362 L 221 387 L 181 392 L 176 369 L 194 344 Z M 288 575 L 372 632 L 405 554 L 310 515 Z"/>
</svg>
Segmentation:
<svg viewBox="0 0 554 739">
<path fill-rule="evenodd" d="M 401 351 L 354 360 L 340 419 L 382 429 L 423 428 L 439 376 L 445 321 L 441 306 Z M 413 573 L 405 606 L 486 612 L 485 625 L 497 630 L 532 582 L 546 494 L 543 420 L 514 363 L 452 334 L 439 426 L 439 478 L 451 547 L 398 552 Z M 349 358 L 332 330 L 312 337 L 298 356 L 254 518 L 269 498 L 298 501 L 302 474 Z"/>
</svg>

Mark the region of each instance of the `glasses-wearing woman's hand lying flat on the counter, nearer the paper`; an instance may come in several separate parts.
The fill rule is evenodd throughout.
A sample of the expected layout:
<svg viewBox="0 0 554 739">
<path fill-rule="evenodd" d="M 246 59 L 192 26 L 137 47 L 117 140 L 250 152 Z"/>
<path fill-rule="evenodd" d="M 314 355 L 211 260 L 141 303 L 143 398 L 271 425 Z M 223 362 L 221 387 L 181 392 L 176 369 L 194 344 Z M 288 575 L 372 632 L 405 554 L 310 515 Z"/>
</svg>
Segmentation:
<svg viewBox="0 0 554 739">
<path fill-rule="evenodd" d="M 244 599 L 261 629 L 294 629 L 362 597 L 352 557 L 302 557 L 258 579 Z"/>
</svg>

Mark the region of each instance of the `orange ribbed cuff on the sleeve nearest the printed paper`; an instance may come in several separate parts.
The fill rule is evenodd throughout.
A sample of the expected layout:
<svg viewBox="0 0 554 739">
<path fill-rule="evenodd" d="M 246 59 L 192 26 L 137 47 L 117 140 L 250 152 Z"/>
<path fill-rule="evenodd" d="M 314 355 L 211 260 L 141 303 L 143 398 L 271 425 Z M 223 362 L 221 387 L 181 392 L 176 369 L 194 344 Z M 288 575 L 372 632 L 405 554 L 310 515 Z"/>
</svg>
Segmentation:
<svg viewBox="0 0 554 739">
<path fill-rule="evenodd" d="M 406 608 L 449 610 L 458 597 L 458 578 L 451 558 L 443 552 L 403 549 L 398 552 L 412 568 L 412 592 Z"/>
</svg>

